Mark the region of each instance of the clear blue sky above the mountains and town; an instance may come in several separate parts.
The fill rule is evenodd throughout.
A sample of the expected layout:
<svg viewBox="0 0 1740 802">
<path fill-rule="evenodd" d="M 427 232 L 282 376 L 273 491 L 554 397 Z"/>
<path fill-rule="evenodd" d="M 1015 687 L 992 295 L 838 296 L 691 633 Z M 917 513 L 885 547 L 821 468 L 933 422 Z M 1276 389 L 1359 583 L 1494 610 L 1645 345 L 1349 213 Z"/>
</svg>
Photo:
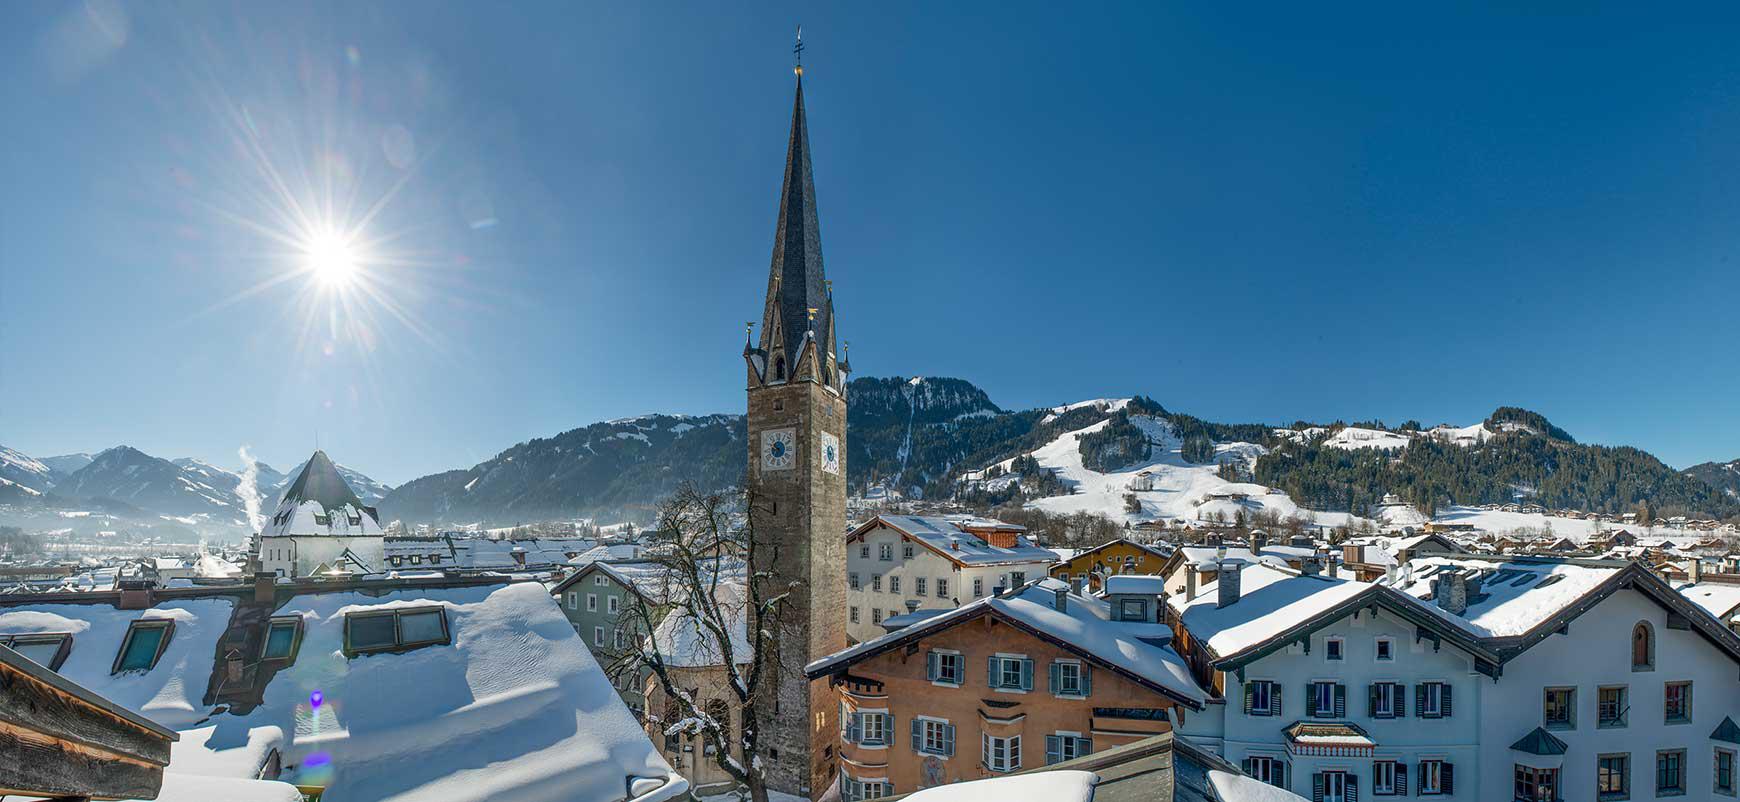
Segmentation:
<svg viewBox="0 0 1740 802">
<path fill-rule="evenodd" d="M 740 411 L 802 21 L 860 376 L 1740 458 L 1733 7 L 284 5 L 0 9 L 0 444 Z"/>
</svg>

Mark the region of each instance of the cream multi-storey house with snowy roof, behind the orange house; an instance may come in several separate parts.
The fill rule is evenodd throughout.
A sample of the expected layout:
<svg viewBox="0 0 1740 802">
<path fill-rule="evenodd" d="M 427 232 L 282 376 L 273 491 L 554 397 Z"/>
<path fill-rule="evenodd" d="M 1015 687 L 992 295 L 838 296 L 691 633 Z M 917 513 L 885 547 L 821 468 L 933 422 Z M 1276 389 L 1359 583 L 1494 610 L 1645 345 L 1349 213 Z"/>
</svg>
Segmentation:
<svg viewBox="0 0 1740 802">
<path fill-rule="evenodd" d="M 995 588 L 1046 576 L 1058 555 L 1027 529 L 971 515 L 877 515 L 846 536 L 846 637 L 882 635 L 882 621 L 954 609 Z"/>
</svg>

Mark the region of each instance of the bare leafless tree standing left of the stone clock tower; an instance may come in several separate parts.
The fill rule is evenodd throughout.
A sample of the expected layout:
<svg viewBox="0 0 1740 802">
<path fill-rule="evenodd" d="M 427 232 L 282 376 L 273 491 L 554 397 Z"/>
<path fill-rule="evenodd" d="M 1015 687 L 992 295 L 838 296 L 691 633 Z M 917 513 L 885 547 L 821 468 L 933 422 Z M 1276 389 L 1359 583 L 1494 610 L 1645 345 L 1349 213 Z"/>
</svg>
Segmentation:
<svg viewBox="0 0 1740 802">
<path fill-rule="evenodd" d="M 644 593 L 651 600 L 637 598 L 623 611 L 618 626 L 630 637 L 612 665 L 618 675 L 651 673 L 668 705 L 649 705 L 647 720 L 665 736 L 699 736 L 706 755 L 755 802 L 767 802 L 759 725 L 778 694 L 785 602 L 793 590 L 750 569 L 780 558 L 776 539 L 755 536 L 753 522 L 764 513 L 752 491 L 679 487 L 659 506 L 658 531 L 644 536 L 663 578 Z M 673 647 L 691 652 L 672 654 Z M 722 672 L 724 699 L 699 699 L 684 687 L 680 672 L 698 663 Z"/>
</svg>

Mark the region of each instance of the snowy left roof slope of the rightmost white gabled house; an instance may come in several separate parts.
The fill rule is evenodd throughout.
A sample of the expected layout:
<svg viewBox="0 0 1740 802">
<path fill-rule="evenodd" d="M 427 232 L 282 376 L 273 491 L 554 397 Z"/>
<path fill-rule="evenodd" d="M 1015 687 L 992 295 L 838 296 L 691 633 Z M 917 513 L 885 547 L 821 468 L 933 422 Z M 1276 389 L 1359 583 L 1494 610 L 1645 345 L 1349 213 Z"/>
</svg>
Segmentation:
<svg viewBox="0 0 1740 802">
<path fill-rule="evenodd" d="M 1622 569 L 1620 564 L 1430 555 L 1408 560 L 1395 579 L 1385 583 L 1425 598 L 1432 595 L 1432 579 L 1442 571 L 1462 571 L 1470 579 L 1479 579 L 1479 591 L 1469 588 L 1469 609 L 1463 614 L 1455 616 L 1430 602 L 1425 607 L 1476 637 L 1493 638 L 1528 633 Z"/>
</svg>

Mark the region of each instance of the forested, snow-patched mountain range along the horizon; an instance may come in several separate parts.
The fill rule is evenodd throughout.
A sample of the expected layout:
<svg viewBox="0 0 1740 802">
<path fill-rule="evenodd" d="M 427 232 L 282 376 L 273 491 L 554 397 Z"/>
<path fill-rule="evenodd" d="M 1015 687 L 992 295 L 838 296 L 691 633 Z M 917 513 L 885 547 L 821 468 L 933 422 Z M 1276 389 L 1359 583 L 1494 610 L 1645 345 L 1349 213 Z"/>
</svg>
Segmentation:
<svg viewBox="0 0 1740 802">
<path fill-rule="evenodd" d="M 1578 444 L 1538 412 L 1516 407 L 1500 407 L 1472 426 L 1427 430 L 1415 421 L 1225 424 L 1169 412 L 1150 398 L 1007 411 L 973 383 L 950 378 L 860 378 L 849 395 L 847 482 L 868 496 L 1044 508 L 1044 499 L 1091 492 L 1103 477 L 1152 463 L 1181 471 L 1176 477 L 1192 485 L 1206 487 L 1204 477 L 1262 482 L 1319 511 L 1371 515 L 1385 494 L 1397 494 L 1416 506 L 1528 498 L 1589 511 L 1630 511 L 1646 503 L 1663 515 L 1740 515 L 1740 461 L 1676 471 L 1639 449 Z M 741 414 L 649 414 L 527 440 L 475 466 L 400 487 L 339 470 L 365 503 L 381 508 L 383 520 L 506 525 L 572 517 L 649 520 L 679 484 L 729 487 L 741 478 L 745 461 Z M 294 473 L 258 463 L 261 506 L 270 511 Z M 988 473 L 1009 478 L 987 480 Z M 237 471 L 125 445 L 42 459 L 0 447 L 0 505 L 14 510 L 85 501 L 115 515 L 244 525 L 240 484 Z M 1143 513 L 1122 511 L 1129 503 L 1122 496 L 1119 485 L 1114 508 L 1094 511 L 1140 518 Z M 1148 505 L 1155 515 L 1171 510 L 1169 501 L 1143 498 L 1138 508 Z M 1079 508 L 1081 501 L 1051 506 Z"/>
</svg>

